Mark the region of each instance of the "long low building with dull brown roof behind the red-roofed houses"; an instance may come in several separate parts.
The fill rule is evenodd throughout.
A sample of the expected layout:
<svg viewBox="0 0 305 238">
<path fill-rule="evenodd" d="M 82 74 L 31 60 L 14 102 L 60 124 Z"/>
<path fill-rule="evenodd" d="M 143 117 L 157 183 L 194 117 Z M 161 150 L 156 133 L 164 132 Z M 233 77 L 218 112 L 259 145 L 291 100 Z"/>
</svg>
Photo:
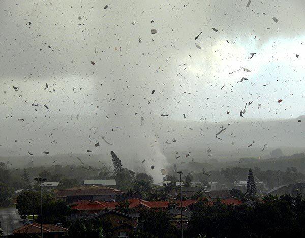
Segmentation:
<svg viewBox="0 0 305 238">
<path fill-rule="evenodd" d="M 79 200 L 121 201 L 125 199 L 125 193 L 121 190 L 97 185 L 58 190 L 55 195 L 56 199 L 62 199 L 68 204 Z"/>
</svg>

